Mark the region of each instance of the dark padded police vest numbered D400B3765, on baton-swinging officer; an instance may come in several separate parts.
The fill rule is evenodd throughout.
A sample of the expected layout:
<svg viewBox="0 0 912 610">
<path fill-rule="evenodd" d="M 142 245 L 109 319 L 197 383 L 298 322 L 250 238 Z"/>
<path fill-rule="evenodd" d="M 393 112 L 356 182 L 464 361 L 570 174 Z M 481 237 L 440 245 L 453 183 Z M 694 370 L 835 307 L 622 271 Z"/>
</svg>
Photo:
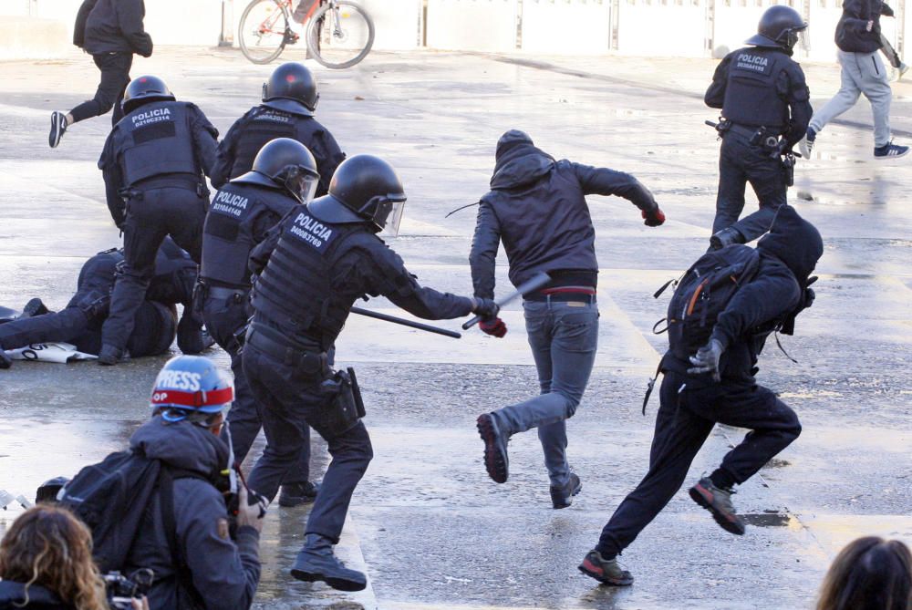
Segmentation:
<svg viewBox="0 0 912 610">
<path fill-rule="evenodd" d="M 254 286 L 254 310 L 326 349 L 345 326 L 353 301 L 333 290 L 330 272 L 353 247 L 378 238 L 362 224 L 320 222 L 306 208 L 282 224 L 282 236 Z"/>
</svg>

